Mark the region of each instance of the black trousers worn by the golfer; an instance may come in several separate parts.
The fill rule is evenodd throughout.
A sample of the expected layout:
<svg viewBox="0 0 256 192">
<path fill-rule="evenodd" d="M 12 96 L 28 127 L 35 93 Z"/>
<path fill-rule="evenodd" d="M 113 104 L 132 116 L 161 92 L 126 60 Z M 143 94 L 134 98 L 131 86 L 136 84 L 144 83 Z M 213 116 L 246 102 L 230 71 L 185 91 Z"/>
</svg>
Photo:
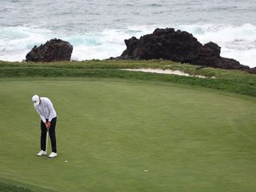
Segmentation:
<svg viewBox="0 0 256 192">
<path fill-rule="evenodd" d="M 48 119 L 46 119 L 46 122 L 48 122 Z M 56 135 L 55 135 L 55 126 L 57 123 L 57 117 L 53 118 L 50 122 L 50 128 L 49 128 L 49 135 L 50 135 L 50 142 L 51 142 L 51 150 L 54 153 L 57 153 L 57 146 L 56 146 Z M 41 120 L 41 150 L 46 150 L 46 125 Z"/>
</svg>

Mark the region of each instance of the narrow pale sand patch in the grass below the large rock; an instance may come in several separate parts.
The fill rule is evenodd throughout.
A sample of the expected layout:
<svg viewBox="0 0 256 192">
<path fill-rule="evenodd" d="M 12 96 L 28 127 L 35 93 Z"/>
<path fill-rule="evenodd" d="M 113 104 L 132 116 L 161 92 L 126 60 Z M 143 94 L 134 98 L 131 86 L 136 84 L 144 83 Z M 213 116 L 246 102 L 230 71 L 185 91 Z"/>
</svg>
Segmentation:
<svg viewBox="0 0 256 192">
<path fill-rule="evenodd" d="M 154 73 L 154 74 L 177 74 L 180 76 L 187 76 L 187 77 L 196 77 L 196 78 L 208 78 L 206 76 L 202 76 L 202 75 L 190 75 L 187 74 L 181 70 L 158 70 L 158 69 L 123 69 L 123 70 L 130 70 L 130 71 L 142 71 L 142 72 L 146 72 L 146 73 Z M 215 78 L 215 77 L 211 77 L 211 78 Z"/>
</svg>

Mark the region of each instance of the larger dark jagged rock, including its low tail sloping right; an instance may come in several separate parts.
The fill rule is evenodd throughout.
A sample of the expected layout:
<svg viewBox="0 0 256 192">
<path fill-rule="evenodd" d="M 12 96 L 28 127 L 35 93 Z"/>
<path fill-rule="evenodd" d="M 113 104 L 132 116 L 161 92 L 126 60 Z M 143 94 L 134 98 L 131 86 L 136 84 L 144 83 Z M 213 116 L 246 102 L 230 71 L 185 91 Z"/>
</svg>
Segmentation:
<svg viewBox="0 0 256 192">
<path fill-rule="evenodd" d="M 220 56 L 221 47 L 214 42 L 204 46 L 192 34 L 172 28 L 156 29 L 153 34 L 125 40 L 126 50 L 117 59 L 158 59 L 186 62 L 199 66 L 221 69 L 245 70 L 254 73 L 249 66 Z"/>
</svg>

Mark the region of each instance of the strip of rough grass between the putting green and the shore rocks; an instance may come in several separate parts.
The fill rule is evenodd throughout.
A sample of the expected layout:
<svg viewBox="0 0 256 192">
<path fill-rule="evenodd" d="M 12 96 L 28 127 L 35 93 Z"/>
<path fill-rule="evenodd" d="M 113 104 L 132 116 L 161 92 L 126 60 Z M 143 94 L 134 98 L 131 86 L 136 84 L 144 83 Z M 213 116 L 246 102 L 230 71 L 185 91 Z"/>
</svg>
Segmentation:
<svg viewBox="0 0 256 192">
<path fill-rule="evenodd" d="M 150 74 L 120 69 L 153 68 L 182 70 L 191 75 L 209 78 L 182 77 L 173 74 Z M 163 60 L 110 61 L 90 60 L 86 62 L 0 62 L 0 78 L 10 77 L 89 77 L 125 78 L 146 81 L 176 82 L 191 86 L 203 86 L 226 90 L 237 94 L 256 96 L 256 75 L 239 70 L 203 68 Z M 210 78 L 215 77 L 215 78 Z"/>
</svg>

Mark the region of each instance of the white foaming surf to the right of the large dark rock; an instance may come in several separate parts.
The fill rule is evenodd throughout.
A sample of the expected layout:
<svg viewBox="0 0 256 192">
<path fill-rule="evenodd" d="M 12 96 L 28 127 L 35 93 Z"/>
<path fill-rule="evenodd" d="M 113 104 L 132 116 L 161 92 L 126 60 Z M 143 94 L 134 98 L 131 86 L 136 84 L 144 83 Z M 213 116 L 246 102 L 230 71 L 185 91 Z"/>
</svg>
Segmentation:
<svg viewBox="0 0 256 192">
<path fill-rule="evenodd" d="M 241 64 L 254 67 L 256 62 L 256 26 L 245 24 L 242 26 L 231 25 L 191 25 L 178 26 L 198 38 L 202 44 L 215 42 L 222 47 L 221 56 L 234 58 Z"/>
</svg>

